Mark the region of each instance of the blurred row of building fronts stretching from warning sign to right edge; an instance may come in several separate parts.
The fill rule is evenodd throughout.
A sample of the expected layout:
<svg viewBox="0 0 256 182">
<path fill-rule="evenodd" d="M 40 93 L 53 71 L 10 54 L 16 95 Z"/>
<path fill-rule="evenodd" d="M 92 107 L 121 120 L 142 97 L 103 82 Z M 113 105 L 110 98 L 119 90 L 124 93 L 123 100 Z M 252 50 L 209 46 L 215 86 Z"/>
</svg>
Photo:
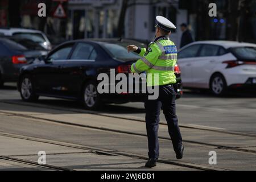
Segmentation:
<svg viewBox="0 0 256 182">
<path fill-rule="evenodd" d="M 208 15 L 211 2 L 217 5 L 217 17 Z M 68 9 L 70 39 L 113 38 L 121 31 L 123 38 L 151 40 L 155 16 L 162 15 L 177 27 L 171 35 L 177 47 L 181 23 L 189 25 L 195 40 L 256 43 L 256 0 L 69 0 Z"/>
</svg>

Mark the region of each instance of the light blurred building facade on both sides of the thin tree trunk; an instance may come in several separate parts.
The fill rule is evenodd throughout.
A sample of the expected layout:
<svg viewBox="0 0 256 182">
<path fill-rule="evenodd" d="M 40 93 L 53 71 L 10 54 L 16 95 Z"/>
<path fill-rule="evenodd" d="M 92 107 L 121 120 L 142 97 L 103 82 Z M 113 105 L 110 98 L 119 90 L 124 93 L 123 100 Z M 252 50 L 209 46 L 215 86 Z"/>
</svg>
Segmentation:
<svg viewBox="0 0 256 182">
<path fill-rule="evenodd" d="M 127 1 L 127 0 L 126 0 Z M 178 10 L 179 1 L 128 0 L 69 0 L 68 38 L 113 38 L 118 37 L 119 18 L 125 10 L 122 37 L 151 40 L 155 35 L 155 16 L 163 15 L 177 25 L 172 40 L 179 44 L 179 24 L 187 22 L 187 10 Z M 120 31 L 120 30 L 119 30 Z"/>
</svg>

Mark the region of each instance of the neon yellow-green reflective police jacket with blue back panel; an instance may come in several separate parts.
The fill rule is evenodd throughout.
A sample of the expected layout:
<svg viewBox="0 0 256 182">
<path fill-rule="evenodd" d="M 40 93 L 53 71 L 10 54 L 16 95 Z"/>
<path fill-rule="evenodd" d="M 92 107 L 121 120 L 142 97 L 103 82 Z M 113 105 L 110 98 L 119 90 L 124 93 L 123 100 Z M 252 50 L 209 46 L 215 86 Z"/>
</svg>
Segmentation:
<svg viewBox="0 0 256 182">
<path fill-rule="evenodd" d="M 131 72 L 146 72 L 147 86 L 176 83 L 174 68 L 177 63 L 177 48 L 168 36 L 161 36 L 151 43 L 147 50 L 139 48 L 138 51 L 141 51 L 139 55 L 142 58 L 131 65 Z M 158 82 L 155 81 L 156 76 L 158 76 Z"/>
</svg>

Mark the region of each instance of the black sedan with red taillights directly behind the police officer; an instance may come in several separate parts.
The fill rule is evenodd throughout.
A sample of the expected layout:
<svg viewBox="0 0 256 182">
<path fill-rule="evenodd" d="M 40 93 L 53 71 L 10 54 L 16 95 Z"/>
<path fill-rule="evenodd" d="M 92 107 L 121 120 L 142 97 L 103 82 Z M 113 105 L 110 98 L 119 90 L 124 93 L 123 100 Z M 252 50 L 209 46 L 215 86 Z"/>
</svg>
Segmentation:
<svg viewBox="0 0 256 182">
<path fill-rule="evenodd" d="M 110 75 L 110 69 L 114 69 L 115 73 L 130 73 L 131 64 L 140 56 L 127 52 L 125 47 L 129 44 L 144 47 L 139 42 L 117 39 L 84 39 L 63 43 L 42 57 L 42 61 L 20 69 L 20 96 L 24 101 L 35 101 L 39 96 L 79 100 L 87 109 L 97 109 L 105 102 L 143 101 L 142 93 L 100 94 L 97 90 L 101 82 L 97 80 L 100 73 Z M 179 67 L 175 67 L 175 72 L 179 79 Z M 143 82 L 143 77 L 140 82 Z M 178 84 L 177 97 L 181 94 L 181 84 Z"/>
</svg>

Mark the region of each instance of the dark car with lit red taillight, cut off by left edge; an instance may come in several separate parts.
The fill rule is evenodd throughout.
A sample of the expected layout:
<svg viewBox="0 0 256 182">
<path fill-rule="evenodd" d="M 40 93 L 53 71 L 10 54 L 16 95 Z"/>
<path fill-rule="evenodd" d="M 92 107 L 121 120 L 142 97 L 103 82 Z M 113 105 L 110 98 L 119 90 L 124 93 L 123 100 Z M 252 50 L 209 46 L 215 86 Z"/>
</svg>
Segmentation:
<svg viewBox="0 0 256 182">
<path fill-rule="evenodd" d="M 12 40 L 0 38 L 0 86 L 4 82 L 18 81 L 19 69 L 38 56 L 38 51 L 30 51 Z"/>
</svg>

